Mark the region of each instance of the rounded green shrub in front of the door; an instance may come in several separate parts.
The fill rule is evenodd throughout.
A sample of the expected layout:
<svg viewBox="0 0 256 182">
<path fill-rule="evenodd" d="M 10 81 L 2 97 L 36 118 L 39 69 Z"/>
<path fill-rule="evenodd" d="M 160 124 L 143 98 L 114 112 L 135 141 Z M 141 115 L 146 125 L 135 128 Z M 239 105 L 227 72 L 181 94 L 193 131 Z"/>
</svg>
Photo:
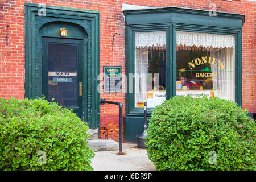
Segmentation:
<svg viewBox="0 0 256 182">
<path fill-rule="evenodd" d="M 55 102 L 0 99 L 1 170 L 93 170 L 88 126 Z"/>
</svg>

